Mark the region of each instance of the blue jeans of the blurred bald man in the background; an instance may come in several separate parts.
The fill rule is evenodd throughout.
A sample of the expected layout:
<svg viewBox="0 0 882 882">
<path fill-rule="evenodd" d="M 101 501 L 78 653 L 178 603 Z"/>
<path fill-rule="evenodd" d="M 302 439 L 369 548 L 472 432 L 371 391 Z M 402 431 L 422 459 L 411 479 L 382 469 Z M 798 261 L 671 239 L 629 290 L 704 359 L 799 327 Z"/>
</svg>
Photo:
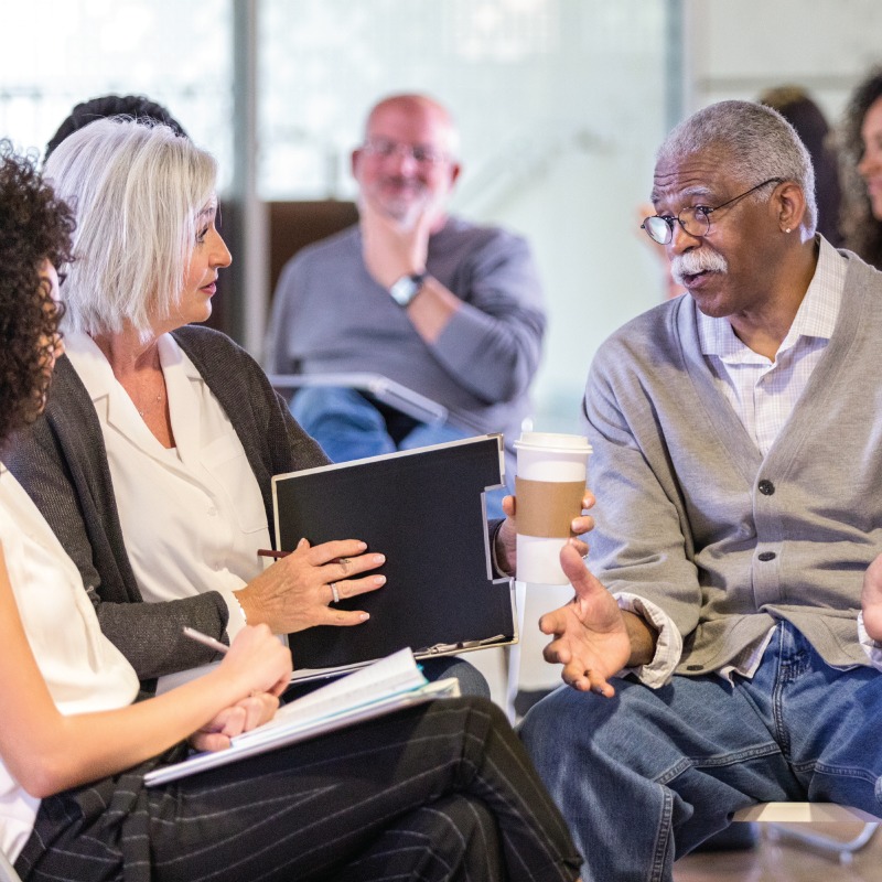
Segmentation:
<svg viewBox="0 0 882 882">
<path fill-rule="evenodd" d="M 291 401 L 291 413 L 303 430 L 312 435 L 333 462 L 349 462 L 367 456 L 395 453 L 397 450 L 459 441 L 469 433 L 450 423 L 430 426 L 413 422 L 396 441 L 383 413 L 355 389 L 336 386 L 306 386 Z M 512 490 L 486 493 L 487 517 L 505 517 L 503 496 Z"/>
</svg>

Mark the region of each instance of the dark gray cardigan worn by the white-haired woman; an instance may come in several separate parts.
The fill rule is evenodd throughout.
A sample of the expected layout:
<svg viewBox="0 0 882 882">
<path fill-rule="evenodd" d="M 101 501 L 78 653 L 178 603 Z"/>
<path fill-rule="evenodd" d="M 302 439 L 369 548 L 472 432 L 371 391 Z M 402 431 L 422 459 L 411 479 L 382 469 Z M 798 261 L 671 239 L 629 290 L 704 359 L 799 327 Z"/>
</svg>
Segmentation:
<svg viewBox="0 0 882 882">
<path fill-rule="evenodd" d="M 195 325 L 173 333 L 229 417 L 263 496 L 273 533 L 270 478 L 327 462 L 291 418 L 257 363 L 229 337 Z M 227 606 L 208 591 L 143 603 L 126 551 L 95 407 L 73 365 L 58 359 L 45 413 L 4 458 L 88 588 L 104 633 L 142 680 L 208 662 L 213 652 L 181 636 L 191 625 L 225 639 Z"/>
</svg>

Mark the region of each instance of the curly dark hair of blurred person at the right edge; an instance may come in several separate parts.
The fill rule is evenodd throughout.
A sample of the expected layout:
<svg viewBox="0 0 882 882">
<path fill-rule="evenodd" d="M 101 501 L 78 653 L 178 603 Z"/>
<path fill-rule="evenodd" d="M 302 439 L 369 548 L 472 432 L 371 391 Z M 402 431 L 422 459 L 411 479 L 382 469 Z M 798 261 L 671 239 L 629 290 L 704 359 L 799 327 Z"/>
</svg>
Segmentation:
<svg viewBox="0 0 882 882">
<path fill-rule="evenodd" d="M 849 99 L 840 139 L 842 153 L 842 233 L 846 246 L 882 269 L 882 220 L 873 217 L 867 184 L 858 174 L 863 154 L 861 126 L 867 111 L 882 98 L 882 66 L 874 67 Z"/>
</svg>

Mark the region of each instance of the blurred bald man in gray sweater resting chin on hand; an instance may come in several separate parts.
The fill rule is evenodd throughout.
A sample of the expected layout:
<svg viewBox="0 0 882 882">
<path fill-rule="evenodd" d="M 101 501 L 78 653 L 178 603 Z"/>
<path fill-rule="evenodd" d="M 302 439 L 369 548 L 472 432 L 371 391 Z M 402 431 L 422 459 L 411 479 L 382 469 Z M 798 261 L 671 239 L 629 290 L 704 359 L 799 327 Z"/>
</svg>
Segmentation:
<svg viewBox="0 0 882 882">
<path fill-rule="evenodd" d="M 359 222 L 286 266 L 269 372 L 381 374 L 449 411 L 429 426 L 351 389 L 303 389 L 294 416 L 335 461 L 482 432 L 503 432 L 510 451 L 546 324 L 526 243 L 447 214 L 458 136 L 431 98 L 377 104 L 352 169 Z"/>
</svg>

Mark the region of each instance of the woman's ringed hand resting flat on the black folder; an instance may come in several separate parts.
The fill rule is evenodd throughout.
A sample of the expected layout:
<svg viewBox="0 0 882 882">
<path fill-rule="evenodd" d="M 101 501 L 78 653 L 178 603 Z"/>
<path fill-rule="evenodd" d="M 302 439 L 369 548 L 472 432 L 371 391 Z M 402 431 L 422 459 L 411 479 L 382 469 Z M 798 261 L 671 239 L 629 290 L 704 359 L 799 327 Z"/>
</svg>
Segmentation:
<svg viewBox="0 0 882 882">
<path fill-rule="evenodd" d="M 363 576 L 386 558 L 366 553 L 357 539 L 298 547 L 236 592 L 249 624 L 262 622 L 276 634 L 291 634 L 316 625 L 349 626 L 368 620 L 362 611 L 341 610 L 337 600 L 376 591 L 386 577 Z"/>
</svg>

